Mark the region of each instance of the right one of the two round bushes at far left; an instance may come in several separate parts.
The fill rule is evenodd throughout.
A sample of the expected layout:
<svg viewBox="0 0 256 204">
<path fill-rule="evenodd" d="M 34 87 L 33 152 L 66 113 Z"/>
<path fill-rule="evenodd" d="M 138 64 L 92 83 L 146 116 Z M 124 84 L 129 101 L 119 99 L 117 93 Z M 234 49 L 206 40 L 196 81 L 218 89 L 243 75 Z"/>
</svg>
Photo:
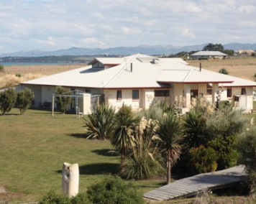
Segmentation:
<svg viewBox="0 0 256 204">
<path fill-rule="evenodd" d="M 25 88 L 24 90 L 17 93 L 16 106 L 19 108 L 19 111 L 22 115 L 27 111 L 27 108 L 31 106 L 32 100 L 34 98 L 35 95 L 29 88 Z"/>
</svg>

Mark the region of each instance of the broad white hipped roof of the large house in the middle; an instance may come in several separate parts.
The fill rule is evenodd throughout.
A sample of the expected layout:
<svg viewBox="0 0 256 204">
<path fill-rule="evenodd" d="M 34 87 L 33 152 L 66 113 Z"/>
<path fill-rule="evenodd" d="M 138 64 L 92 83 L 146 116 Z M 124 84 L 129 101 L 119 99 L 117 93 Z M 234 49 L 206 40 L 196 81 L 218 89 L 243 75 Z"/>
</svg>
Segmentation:
<svg viewBox="0 0 256 204">
<path fill-rule="evenodd" d="M 210 70 L 195 68 L 180 58 L 130 55 L 112 59 L 121 62 L 108 69 L 88 65 L 76 70 L 29 80 L 22 84 L 62 85 L 85 88 L 163 88 L 170 83 L 219 83 L 230 86 L 256 86 L 251 80 L 235 78 Z M 110 60 L 109 60 L 110 61 Z M 106 62 L 106 61 L 104 61 Z"/>
</svg>

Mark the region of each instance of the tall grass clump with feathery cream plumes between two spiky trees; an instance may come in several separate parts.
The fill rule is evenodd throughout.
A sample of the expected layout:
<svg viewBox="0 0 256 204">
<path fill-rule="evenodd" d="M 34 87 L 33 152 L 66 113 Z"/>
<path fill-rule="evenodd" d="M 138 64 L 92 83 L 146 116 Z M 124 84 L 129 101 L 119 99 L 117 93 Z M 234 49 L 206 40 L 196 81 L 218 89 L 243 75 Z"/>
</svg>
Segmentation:
<svg viewBox="0 0 256 204">
<path fill-rule="evenodd" d="M 158 149 L 160 139 L 155 134 L 156 120 L 142 118 L 134 134 L 135 144 L 124 165 L 123 177 L 145 180 L 165 174 Z"/>
</svg>

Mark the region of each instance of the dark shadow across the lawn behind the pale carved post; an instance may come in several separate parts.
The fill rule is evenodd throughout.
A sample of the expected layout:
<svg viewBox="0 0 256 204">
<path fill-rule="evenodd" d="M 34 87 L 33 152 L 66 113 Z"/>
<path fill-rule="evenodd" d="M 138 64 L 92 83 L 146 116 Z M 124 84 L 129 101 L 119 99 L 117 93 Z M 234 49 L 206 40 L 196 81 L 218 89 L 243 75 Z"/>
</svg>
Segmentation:
<svg viewBox="0 0 256 204">
<path fill-rule="evenodd" d="M 85 164 L 79 167 L 80 175 L 114 175 L 119 171 L 119 164 L 113 163 L 95 163 Z M 61 170 L 56 171 L 61 173 Z"/>
</svg>

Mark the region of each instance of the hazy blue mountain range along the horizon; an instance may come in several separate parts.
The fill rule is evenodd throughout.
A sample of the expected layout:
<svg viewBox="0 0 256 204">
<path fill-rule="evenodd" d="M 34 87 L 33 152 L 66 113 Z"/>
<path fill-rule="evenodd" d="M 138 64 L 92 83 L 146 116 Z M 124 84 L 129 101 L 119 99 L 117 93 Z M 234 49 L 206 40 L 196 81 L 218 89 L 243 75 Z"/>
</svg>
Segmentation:
<svg viewBox="0 0 256 204">
<path fill-rule="evenodd" d="M 42 56 L 63 56 L 63 55 L 132 55 L 134 53 L 143 53 L 147 55 L 170 55 L 178 52 L 193 50 L 202 50 L 206 44 L 190 45 L 185 47 L 178 46 L 162 46 L 162 45 L 140 45 L 137 47 L 109 47 L 105 49 L 101 48 L 82 48 L 82 47 L 70 47 L 66 50 L 44 51 L 44 50 L 32 50 L 32 51 L 20 51 L 6 54 L 0 54 L 0 57 L 42 57 Z M 256 43 L 229 43 L 223 45 L 224 49 L 229 50 L 256 50 Z"/>
</svg>

